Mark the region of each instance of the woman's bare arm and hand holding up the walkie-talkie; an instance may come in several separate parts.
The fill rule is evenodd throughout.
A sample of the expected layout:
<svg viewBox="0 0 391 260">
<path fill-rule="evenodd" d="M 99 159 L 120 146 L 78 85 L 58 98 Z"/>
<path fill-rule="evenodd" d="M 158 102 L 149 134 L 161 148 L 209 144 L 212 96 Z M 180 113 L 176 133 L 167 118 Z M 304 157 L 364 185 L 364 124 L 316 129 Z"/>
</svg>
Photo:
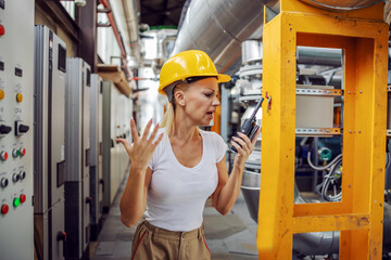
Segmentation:
<svg viewBox="0 0 391 260">
<path fill-rule="evenodd" d="M 225 165 L 225 158 L 217 162 L 218 184 L 216 191 L 212 195 L 212 200 L 216 210 L 222 214 L 227 214 L 238 199 L 243 177 L 244 162 L 254 150 L 260 131 L 261 130 L 255 133 L 252 142 L 242 133 L 238 133 L 242 140 L 234 138 L 235 141 L 240 143 L 241 147 L 237 143 L 232 142 L 232 145 L 237 148 L 238 153 L 235 156 L 234 168 L 229 178 L 227 167 Z"/>
</svg>

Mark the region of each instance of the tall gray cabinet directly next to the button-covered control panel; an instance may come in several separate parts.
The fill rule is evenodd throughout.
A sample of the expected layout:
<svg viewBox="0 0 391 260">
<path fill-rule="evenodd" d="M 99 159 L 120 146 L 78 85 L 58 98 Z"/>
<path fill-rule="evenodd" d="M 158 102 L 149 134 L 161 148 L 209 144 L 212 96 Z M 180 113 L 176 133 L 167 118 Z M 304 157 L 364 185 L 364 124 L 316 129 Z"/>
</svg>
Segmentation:
<svg viewBox="0 0 391 260">
<path fill-rule="evenodd" d="M 42 259 L 63 259 L 65 77 L 65 43 L 48 27 L 37 25 L 34 89 L 34 219 L 36 251 Z M 54 211 L 58 214 L 55 218 L 53 218 Z"/>
</svg>

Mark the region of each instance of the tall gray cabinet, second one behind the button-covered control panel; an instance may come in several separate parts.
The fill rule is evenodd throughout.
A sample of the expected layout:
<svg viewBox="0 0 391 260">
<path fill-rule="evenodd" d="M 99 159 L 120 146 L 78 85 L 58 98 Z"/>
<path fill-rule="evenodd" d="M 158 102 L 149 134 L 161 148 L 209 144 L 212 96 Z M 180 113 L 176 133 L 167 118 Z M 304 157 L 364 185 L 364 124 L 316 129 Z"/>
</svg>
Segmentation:
<svg viewBox="0 0 391 260">
<path fill-rule="evenodd" d="M 90 66 L 66 60 L 65 91 L 65 258 L 88 256 L 90 235 Z"/>
</svg>

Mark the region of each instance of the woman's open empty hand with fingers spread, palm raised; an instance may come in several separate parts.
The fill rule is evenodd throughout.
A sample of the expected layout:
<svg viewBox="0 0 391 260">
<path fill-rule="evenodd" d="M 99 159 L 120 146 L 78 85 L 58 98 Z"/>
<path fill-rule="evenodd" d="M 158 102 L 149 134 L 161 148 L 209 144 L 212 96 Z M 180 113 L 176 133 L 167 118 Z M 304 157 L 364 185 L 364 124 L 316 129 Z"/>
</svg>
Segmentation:
<svg viewBox="0 0 391 260">
<path fill-rule="evenodd" d="M 152 158 L 153 151 L 156 148 L 157 144 L 160 143 L 164 134 L 161 133 L 159 138 L 155 140 L 159 130 L 159 123 L 156 123 L 151 135 L 148 136 L 151 130 L 151 126 L 152 126 L 152 119 L 148 121 L 142 135 L 139 136 L 136 130 L 136 122 L 131 118 L 130 131 L 134 143 L 129 144 L 125 139 L 117 139 L 117 141 L 124 145 L 134 167 L 137 167 L 142 170 L 147 169 L 148 164 Z"/>
</svg>

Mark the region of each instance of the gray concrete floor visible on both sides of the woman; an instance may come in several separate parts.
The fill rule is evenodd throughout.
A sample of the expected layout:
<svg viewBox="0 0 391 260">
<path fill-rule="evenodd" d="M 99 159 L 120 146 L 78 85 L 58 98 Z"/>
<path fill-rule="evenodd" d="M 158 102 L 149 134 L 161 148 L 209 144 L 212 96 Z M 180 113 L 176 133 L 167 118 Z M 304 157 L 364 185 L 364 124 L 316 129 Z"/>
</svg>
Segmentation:
<svg viewBox="0 0 391 260">
<path fill-rule="evenodd" d="M 128 229 L 119 220 L 119 198 L 124 187 L 125 183 L 121 186 L 110 213 L 103 216 L 103 227 L 98 242 L 90 243 L 92 260 L 130 259 L 131 239 L 136 226 Z M 250 218 L 241 194 L 227 216 L 219 214 L 207 202 L 204 225 L 212 259 L 257 260 L 256 223 Z"/>
</svg>

